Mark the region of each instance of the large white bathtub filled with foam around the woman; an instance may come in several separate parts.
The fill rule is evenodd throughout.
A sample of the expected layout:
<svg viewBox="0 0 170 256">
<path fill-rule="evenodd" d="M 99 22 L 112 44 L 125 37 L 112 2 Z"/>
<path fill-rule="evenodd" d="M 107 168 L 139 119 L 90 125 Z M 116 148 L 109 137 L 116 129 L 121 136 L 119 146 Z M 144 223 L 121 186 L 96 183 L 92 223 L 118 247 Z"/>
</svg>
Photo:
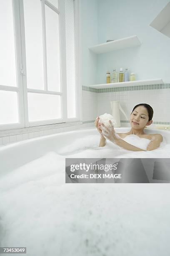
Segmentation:
<svg viewBox="0 0 170 256">
<path fill-rule="evenodd" d="M 147 132 L 170 143 L 168 132 Z M 65 184 L 65 157 L 166 157 L 168 144 L 151 156 L 98 143 L 89 128 L 0 148 L 1 247 L 26 246 L 28 256 L 169 255 L 169 184 Z"/>
</svg>

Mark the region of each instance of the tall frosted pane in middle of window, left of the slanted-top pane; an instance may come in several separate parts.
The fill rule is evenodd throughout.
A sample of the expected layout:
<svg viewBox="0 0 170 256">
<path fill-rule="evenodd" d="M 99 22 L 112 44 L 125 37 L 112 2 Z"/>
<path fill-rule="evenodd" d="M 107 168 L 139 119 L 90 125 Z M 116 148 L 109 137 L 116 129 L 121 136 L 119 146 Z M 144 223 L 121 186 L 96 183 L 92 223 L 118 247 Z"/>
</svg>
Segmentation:
<svg viewBox="0 0 170 256">
<path fill-rule="evenodd" d="M 44 90 L 40 0 L 24 0 L 27 87 Z"/>
</svg>

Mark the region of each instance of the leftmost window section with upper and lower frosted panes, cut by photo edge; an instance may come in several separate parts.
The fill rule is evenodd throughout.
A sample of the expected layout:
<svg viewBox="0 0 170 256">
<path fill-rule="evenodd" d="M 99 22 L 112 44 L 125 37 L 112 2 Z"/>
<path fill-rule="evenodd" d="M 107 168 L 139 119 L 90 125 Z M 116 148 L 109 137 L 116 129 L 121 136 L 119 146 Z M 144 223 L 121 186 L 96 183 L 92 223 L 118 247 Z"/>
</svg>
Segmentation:
<svg viewBox="0 0 170 256">
<path fill-rule="evenodd" d="M 0 5 L 0 130 L 24 127 L 23 82 L 20 76 L 21 44 L 19 3 Z M 18 49 L 18 50 L 16 50 Z"/>
</svg>

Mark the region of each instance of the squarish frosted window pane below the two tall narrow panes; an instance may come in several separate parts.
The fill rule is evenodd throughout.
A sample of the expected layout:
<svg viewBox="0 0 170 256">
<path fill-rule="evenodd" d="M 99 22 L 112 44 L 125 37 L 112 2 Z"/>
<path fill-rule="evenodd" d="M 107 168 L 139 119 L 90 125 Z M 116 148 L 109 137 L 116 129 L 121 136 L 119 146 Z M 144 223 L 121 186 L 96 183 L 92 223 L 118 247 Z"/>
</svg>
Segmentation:
<svg viewBox="0 0 170 256">
<path fill-rule="evenodd" d="M 28 93 L 29 121 L 61 118 L 60 95 Z"/>
</svg>

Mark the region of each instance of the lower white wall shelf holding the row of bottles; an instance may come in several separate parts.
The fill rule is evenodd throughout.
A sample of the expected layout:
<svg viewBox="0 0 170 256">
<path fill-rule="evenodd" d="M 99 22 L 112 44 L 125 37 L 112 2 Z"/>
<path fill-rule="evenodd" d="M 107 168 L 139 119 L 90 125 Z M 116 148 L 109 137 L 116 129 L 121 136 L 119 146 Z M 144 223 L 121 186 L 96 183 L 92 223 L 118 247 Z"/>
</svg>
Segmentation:
<svg viewBox="0 0 170 256">
<path fill-rule="evenodd" d="M 143 85 L 143 84 L 163 84 L 163 80 L 149 79 L 149 80 L 138 80 L 138 81 L 129 81 L 129 82 L 120 82 L 120 83 L 110 83 L 110 84 L 92 84 L 92 85 L 87 85 L 87 87 L 103 89 L 103 88 L 124 87 L 124 86 Z"/>
</svg>

